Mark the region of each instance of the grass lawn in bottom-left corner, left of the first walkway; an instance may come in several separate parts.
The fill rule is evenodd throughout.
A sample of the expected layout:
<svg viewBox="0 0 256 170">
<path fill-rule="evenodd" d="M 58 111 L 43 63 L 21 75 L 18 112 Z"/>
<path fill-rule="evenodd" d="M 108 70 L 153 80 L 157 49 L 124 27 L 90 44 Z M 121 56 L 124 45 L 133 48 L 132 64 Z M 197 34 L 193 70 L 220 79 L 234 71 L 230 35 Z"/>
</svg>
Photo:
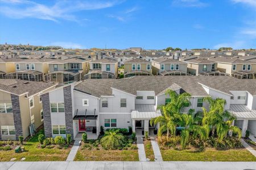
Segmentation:
<svg viewBox="0 0 256 170">
<path fill-rule="evenodd" d="M 28 142 L 24 142 L 25 152 L 15 153 L 14 150 L 0 151 L 0 161 L 10 161 L 16 158 L 15 161 L 61 161 L 66 160 L 71 150 L 71 147 L 65 148 L 40 148 L 37 140 L 38 134 L 31 138 Z"/>
</svg>

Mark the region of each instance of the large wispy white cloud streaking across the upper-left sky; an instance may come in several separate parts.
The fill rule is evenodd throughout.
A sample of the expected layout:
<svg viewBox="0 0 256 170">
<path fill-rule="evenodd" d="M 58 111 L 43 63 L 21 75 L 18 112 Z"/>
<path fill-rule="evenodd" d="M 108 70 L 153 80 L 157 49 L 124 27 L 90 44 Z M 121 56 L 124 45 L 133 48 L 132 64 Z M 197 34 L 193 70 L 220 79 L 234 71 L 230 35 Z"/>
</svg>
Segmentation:
<svg viewBox="0 0 256 170">
<path fill-rule="evenodd" d="M 1 5 L 2 2 L 2 5 Z M 0 13 L 10 18 L 37 18 L 44 20 L 59 19 L 77 21 L 74 12 L 84 10 L 99 10 L 112 7 L 123 1 L 57 1 L 53 6 L 43 5 L 33 1 L 0 0 Z"/>
</svg>

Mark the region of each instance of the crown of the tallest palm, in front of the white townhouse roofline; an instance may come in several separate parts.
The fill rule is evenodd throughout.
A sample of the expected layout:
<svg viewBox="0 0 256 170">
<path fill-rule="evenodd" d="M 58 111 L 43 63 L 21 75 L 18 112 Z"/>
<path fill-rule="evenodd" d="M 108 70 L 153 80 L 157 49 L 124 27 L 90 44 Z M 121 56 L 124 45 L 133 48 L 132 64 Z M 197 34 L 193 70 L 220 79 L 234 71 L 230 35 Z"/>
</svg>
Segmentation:
<svg viewBox="0 0 256 170">
<path fill-rule="evenodd" d="M 182 113 L 185 107 L 189 107 L 191 105 L 191 95 L 186 92 L 178 95 L 175 91 L 169 89 L 166 91 L 166 95 L 169 95 L 171 99 L 171 101 L 166 105 L 167 110 L 171 113 Z"/>
</svg>

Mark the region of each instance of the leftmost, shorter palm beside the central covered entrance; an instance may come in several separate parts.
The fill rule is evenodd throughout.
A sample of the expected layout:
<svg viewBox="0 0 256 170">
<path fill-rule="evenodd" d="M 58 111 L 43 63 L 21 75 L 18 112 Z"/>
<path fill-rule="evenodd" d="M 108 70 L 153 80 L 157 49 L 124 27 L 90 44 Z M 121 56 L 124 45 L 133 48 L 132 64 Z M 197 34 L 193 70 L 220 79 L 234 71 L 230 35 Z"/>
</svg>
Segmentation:
<svg viewBox="0 0 256 170">
<path fill-rule="evenodd" d="M 162 112 L 162 116 L 152 118 L 150 120 L 150 124 L 151 126 L 153 126 L 159 123 L 160 128 L 158 130 L 158 137 L 162 136 L 162 134 L 166 132 L 166 138 L 168 140 L 170 133 L 171 135 L 174 135 L 176 132 L 176 119 L 179 118 L 179 115 L 170 114 L 170 112 L 168 112 L 167 110 L 167 107 L 164 105 L 161 106 L 160 109 Z"/>
</svg>

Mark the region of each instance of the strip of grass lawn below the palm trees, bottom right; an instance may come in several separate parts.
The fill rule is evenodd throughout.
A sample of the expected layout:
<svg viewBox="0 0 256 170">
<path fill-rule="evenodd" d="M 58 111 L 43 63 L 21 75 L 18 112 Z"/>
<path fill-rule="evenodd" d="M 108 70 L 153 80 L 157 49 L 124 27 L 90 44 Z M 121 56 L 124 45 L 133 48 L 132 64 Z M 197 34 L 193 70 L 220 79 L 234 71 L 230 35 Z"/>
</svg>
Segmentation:
<svg viewBox="0 0 256 170">
<path fill-rule="evenodd" d="M 160 150 L 164 161 L 220 161 L 220 162 L 255 162 L 256 158 L 245 148 L 236 150 L 216 150 L 206 148 L 204 151 Z"/>
</svg>

